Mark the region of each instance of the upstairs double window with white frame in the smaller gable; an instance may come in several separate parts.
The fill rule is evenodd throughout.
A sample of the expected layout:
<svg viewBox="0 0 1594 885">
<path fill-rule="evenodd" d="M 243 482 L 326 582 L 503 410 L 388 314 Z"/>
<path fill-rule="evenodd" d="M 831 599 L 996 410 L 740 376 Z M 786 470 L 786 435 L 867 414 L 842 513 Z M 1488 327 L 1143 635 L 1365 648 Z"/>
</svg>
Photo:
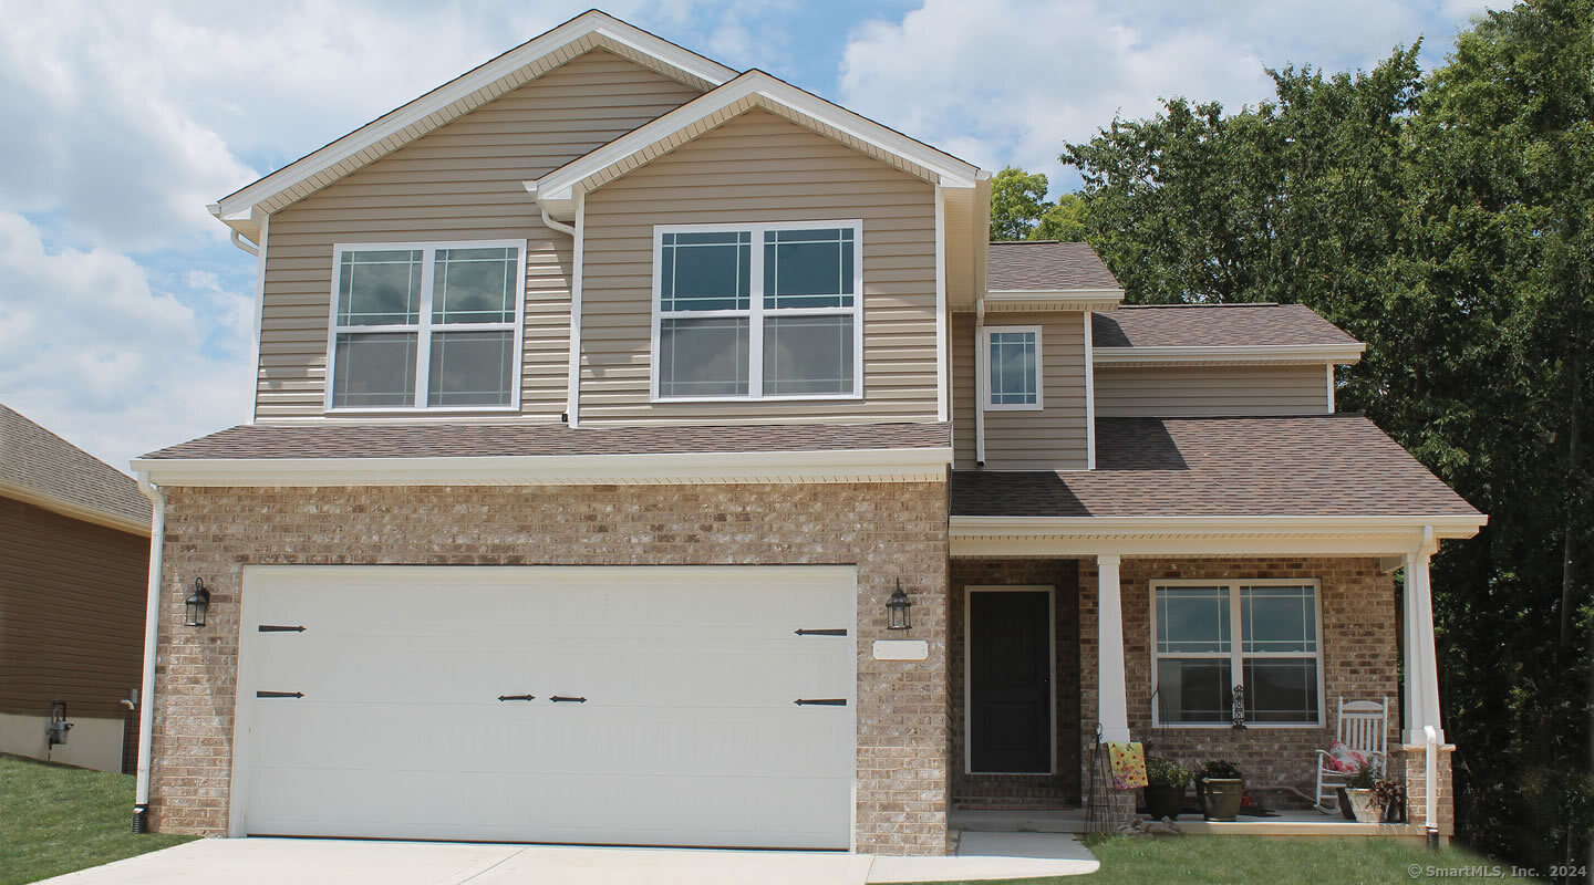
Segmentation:
<svg viewBox="0 0 1594 885">
<path fill-rule="evenodd" d="M 654 400 L 862 396 L 861 221 L 654 231 Z"/>
</svg>

